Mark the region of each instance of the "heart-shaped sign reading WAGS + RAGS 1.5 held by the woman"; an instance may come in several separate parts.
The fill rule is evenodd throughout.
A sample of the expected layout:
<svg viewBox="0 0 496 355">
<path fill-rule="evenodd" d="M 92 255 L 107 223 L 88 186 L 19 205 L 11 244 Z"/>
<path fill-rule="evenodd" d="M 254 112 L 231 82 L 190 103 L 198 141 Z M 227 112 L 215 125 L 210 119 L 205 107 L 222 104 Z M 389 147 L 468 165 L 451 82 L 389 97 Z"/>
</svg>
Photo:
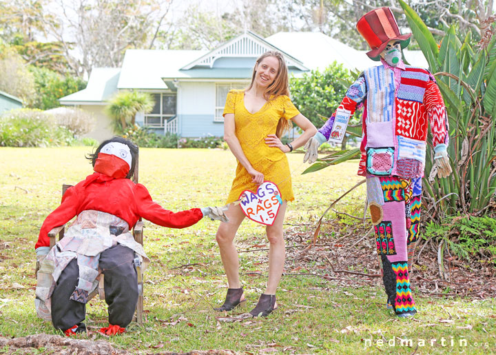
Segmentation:
<svg viewBox="0 0 496 355">
<path fill-rule="evenodd" d="M 279 188 L 272 181 L 264 181 L 256 193 L 250 190 L 241 192 L 239 200 L 245 215 L 263 225 L 273 225 L 282 204 Z"/>
</svg>

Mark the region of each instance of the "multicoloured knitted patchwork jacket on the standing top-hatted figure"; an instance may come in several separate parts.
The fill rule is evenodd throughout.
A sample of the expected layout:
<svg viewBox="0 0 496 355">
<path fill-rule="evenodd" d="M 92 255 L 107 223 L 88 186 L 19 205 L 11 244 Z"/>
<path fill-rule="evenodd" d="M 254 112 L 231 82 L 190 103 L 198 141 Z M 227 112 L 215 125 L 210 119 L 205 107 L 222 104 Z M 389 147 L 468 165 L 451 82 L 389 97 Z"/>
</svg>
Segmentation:
<svg viewBox="0 0 496 355">
<path fill-rule="evenodd" d="M 428 70 L 404 65 L 366 69 L 350 86 L 339 108 L 355 112 L 364 105 L 362 156 L 358 174 L 424 176 L 426 138 L 448 144 L 448 120 L 441 93 Z M 319 132 L 329 139 L 335 112 Z"/>
</svg>

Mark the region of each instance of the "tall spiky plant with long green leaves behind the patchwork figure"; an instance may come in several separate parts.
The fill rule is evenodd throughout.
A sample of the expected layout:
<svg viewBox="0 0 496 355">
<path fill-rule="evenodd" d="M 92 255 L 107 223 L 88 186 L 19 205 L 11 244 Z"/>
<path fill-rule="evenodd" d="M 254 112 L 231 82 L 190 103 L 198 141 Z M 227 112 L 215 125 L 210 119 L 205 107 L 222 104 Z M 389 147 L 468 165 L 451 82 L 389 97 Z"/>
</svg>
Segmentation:
<svg viewBox="0 0 496 355">
<path fill-rule="evenodd" d="M 477 47 L 471 34 L 463 42 L 450 28 L 438 47 L 425 23 L 399 0 L 413 36 L 427 59 L 444 97 L 448 112 L 448 153 L 453 174 L 447 179 L 429 176 L 432 150 L 426 156 L 424 197 L 428 214 L 440 221 L 456 213 L 483 214 L 494 200 L 496 189 L 496 37 L 489 31 Z M 360 136 L 360 128 L 348 133 Z M 429 133 L 428 142 L 432 141 Z M 304 173 L 314 172 L 349 159 L 358 159 L 358 148 L 342 150 L 319 159 Z"/>
</svg>

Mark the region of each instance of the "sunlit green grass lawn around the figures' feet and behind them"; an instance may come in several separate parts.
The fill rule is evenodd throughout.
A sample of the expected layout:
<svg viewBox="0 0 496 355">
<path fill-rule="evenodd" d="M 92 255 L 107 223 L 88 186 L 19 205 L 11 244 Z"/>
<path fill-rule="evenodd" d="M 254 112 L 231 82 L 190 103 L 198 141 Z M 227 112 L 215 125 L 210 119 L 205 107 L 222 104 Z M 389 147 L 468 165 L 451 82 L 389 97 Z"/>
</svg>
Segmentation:
<svg viewBox="0 0 496 355">
<path fill-rule="evenodd" d="M 84 159 L 90 151 L 87 147 L 0 148 L 4 167 L 0 176 L 0 336 L 57 334 L 34 311 L 34 243 L 43 219 L 59 204 L 61 185 L 81 181 L 92 172 Z M 355 175 L 358 164 L 344 163 L 301 175 L 305 168 L 302 154 L 288 157 L 296 201 L 289 203 L 286 222 L 301 225 L 300 230 L 310 236 L 313 225 L 309 221 L 316 221 L 330 201 L 360 181 Z M 224 150 L 141 149 L 139 176 L 154 201 L 169 210 L 186 210 L 223 205 L 235 165 L 234 156 Z M 335 208 L 360 215 L 364 197 L 362 185 Z M 279 309 L 271 316 L 219 321 L 216 317 L 223 315 L 212 307 L 222 303 L 226 279 L 215 241 L 217 225 L 202 220 L 173 230 L 145 222 L 145 251 L 152 260 L 145 274 L 147 320 L 143 327 L 132 323 L 127 333 L 108 341 L 143 353 L 192 349 L 247 354 L 496 352 L 494 298 L 424 298 L 413 285 L 419 313 L 400 319 L 384 307 L 380 278 L 375 287 L 344 289 L 315 276 L 283 276 Z M 240 250 L 265 244 L 265 229 L 246 220 L 237 243 Z M 240 254 L 249 309 L 265 288 L 267 264 L 259 259 L 265 253 Z M 180 267 L 187 264 L 194 265 Z M 106 326 L 106 316 L 103 301 L 90 301 L 86 319 L 90 329 Z M 90 338 L 106 339 L 96 334 Z"/>
</svg>

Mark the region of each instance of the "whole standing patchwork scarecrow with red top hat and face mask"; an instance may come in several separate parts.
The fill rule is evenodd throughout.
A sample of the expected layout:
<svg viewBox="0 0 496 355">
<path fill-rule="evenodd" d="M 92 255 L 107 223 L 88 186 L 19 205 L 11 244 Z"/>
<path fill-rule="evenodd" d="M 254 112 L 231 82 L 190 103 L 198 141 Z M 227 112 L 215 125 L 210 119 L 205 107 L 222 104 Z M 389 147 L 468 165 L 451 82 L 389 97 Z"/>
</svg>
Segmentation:
<svg viewBox="0 0 496 355">
<path fill-rule="evenodd" d="M 402 49 L 411 33 L 400 34 L 389 8 L 367 12 L 356 27 L 371 47 L 367 55 L 381 65 L 360 74 L 338 110 L 352 115 L 364 107 L 358 174 L 366 176 L 388 307 L 397 316 L 412 316 L 417 310 L 409 272 L 420 223 L 429 123 L 437 176 L 451 174 L 446 108 L 433 75 L 403 63 Z M 305 145 L 304 161 L 316 161 L 318 147 L 329 139 L 335 119 L 336 112 Z"/>
</svg>

